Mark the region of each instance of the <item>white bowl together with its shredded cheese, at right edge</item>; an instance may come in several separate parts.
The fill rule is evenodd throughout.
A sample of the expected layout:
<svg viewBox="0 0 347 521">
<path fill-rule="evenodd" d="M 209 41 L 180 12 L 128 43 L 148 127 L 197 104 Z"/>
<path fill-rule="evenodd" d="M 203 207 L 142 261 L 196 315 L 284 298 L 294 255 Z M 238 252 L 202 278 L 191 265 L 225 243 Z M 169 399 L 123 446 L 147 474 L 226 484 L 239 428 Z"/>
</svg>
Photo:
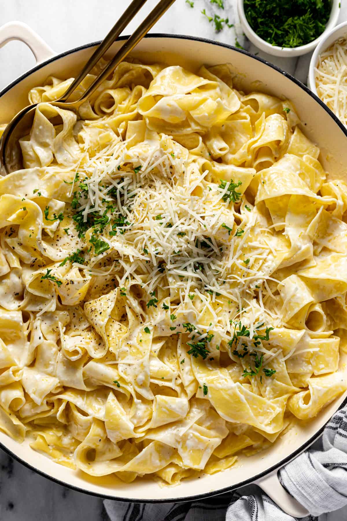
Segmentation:
<svg viewBox="0 0 347 521">
<path fill-rule="evenodd" d="M 317 46 L 307 85 L 347 126 L 347 22 L 337 26 Z"/>
</svg>

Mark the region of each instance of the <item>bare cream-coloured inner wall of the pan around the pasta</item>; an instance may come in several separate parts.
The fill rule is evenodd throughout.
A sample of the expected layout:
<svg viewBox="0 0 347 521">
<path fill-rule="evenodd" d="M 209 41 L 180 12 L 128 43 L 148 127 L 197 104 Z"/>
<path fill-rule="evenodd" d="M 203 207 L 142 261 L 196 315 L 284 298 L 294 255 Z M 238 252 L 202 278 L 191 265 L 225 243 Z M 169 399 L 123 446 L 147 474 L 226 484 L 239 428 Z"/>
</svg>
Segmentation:
<svg viewBox="0 0 347 521">
<path fill-rule="evenodd" d="M 120 45 L 121 42 L 115 43 L 112 53 Z M 33 86 L 42 84 L 50 75 L 61 78 L 74 76 L 75 71 L 78 71 L 81 64 L 85 63 L 92 51 L 93 47 L 88 47 L 58 57 L 12 86 L 0 98 L 0 123 L 9 121 L 20 108 L 27 105 L 27 93 Z M 242 86 L 246 91 L 260 90 L 289 98 L 294 103 L 302 121 L 302 130 L 320 147 L 322 163 L 329 178 L 347 180 L 347 136 L 345 132 L 313 96 L 294 83 L 285 73 L 235 49 L 212 42 L 174 37 L 146 38 L 140 42 L 133 56 L 146 63 L 163 61 L 168 64 L 183 65 L 192 70 L 196 70 L 201 64 L 208 66 L 221 63 L 231 64 L 235 71 L 238 88 Z M 347 378 L 347 355 L 341 360 L 341 364 L 346 370 Z M 97 495 L 135 501 L 177 500 L 235 487 L 241 482 L 255 479 L 270 468 L 279 466 L 307 446 L 317 431 L 324 426 L 346 399 L 346 396 L 347 393 L 332 402 L 314 420 L 301 423 L 300 426 L 291 429 L 270 449 L 243 458 L 236 466 L 224 472 L 195 480 L 184 480 L 177 487 L 160 488 L 156 482 L 146 479 L 130 484 L 125 484 L 110 476 L 95 479 L 50 461 L 46 456 L 30 449 L 27 442 L 20 445 L 2 432 L 0 432 L 0 443 L 39 472 L 71 487 Z"/>
</svg>

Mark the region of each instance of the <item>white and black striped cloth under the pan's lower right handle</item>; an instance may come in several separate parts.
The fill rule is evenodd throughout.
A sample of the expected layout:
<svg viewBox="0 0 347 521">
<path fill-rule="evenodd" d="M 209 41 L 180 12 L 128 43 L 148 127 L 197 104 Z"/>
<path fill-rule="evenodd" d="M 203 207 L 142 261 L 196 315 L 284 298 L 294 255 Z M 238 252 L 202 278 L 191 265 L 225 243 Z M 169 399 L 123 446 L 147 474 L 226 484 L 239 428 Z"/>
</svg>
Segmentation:
<svg viewBox="0 0 347 521">
<path fill-rule="evenodd" d="M 311 515 L 302 521 L 328 521 L 342 509 L 347 520 L 347 407 L 338 411 L 322 438 L 280 470 L 282 484 Z M 104 502 L 111 521 L 293 521 L 259 487 L 249 485 L 192 503 Z"/>
</svg>

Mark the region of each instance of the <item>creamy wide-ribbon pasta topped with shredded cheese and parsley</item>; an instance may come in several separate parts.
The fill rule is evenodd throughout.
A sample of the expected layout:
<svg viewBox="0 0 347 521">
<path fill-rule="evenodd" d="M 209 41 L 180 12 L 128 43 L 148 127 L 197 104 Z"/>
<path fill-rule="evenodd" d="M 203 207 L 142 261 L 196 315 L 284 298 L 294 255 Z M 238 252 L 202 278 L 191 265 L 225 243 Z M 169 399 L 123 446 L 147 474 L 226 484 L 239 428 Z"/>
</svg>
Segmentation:
<svg viewBox="0 0 347 521">
<path fill-rule="evenodd" d="M 71 82 L 0 179 L 0 429 L 125 482 L 226 469 L 347 388 L 347 185 L 228 65 L 124 62 L 79 120 Z"/>
</svg>

